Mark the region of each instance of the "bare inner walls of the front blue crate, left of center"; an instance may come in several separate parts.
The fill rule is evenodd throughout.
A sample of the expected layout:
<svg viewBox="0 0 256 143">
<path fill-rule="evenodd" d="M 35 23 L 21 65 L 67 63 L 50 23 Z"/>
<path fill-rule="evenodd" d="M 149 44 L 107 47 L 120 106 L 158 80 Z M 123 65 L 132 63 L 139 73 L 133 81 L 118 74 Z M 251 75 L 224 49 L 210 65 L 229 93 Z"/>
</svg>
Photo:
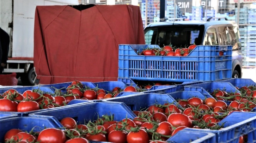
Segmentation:
<svg viewBox="0 0 256 143">
<path fill-rule="evenodd" d="M 32 117 L 48 116 L 61 120 L 65 117 L 72 117 L 78 123 L 94 121 L 102 115 L 114 115 L 114 120 L 121 121 L 124 118 L 134 118 L 136 115 L 124 104 L 120 102 L 92 102 L 88 104 L 73 105 L 62 109 L 42 111 L 30 114 Z M 61 127 L 60 122 L 57 122 Z"/>
</svg>

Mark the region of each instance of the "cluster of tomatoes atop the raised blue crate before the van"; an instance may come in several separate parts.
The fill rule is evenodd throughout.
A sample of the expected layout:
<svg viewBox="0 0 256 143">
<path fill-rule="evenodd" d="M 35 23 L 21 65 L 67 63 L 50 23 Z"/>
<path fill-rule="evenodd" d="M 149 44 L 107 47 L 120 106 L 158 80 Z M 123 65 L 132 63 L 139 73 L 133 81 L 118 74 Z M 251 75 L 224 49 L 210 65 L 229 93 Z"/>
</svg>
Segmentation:
<svg viewBox="0 0 256 143">
<path fill-rule="evenodd" d="M 145 49 L 139 55 L 145 56 L 187 56 L 196 45 L 190 45 L 188 48 L 177 48 L 174 50 L 171 46 L 164 46 L 163 48 Z"/>
</svg>

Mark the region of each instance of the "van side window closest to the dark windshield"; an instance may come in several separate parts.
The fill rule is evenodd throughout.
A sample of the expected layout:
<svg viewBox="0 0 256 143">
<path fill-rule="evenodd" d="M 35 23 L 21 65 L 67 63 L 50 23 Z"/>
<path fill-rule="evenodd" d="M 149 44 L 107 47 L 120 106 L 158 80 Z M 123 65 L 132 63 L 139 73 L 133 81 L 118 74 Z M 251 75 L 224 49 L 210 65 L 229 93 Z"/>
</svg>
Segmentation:
<svg viewBox="0 0 256 143">
<path fill-rule="evenodd" d="M 215 28 L 210 28 L 207 30 L 205 38 L 203 39 L 203 45 L 218 45 Z"/>
</svg>

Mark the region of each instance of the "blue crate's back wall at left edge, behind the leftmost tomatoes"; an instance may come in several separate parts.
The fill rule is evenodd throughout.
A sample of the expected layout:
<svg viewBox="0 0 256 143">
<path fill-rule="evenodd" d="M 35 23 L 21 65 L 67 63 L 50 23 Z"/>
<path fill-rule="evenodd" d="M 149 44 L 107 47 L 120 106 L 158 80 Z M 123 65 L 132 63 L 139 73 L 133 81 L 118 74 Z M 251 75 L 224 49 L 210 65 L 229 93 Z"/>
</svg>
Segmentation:
<svg viewBox="0 0 256 143">
<path fill-rule="evenodd" d="M 5 88 L 0 89 L 0 94 L 3 94 L 5 91 L 9 89 L 15 89 L 18 91 L 18 93 L 23 94 L 26 90 L 33 90 L 33 89 L 39 89 L 42 90 L 44 93 L 50 93 L 53 94 L 54 90 L 49 87 L 43 87 L 43 86 L 28 86 L 28 87 L 15 87 L 15 88 Z"/>
</svg>

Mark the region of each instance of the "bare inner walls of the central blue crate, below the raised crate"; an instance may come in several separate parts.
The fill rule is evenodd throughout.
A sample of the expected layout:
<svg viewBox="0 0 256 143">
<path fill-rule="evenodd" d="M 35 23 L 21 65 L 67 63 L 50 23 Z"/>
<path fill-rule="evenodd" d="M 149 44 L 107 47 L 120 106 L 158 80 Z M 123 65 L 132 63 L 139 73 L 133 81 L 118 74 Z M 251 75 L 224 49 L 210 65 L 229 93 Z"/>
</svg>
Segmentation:
<svg viewBox="0 0 256 143">
<path fill-rule="evenodd" d="M 140 95 L 130 95 L 124 97 L 108 98 L 103 100 L 103 102 L 122 102 L 126 104 L 130 110 L 140 111 L 142 109 L 147 109 L 153 104 L 165 104 L 173 103 L 177 104 L 175 99 L 173 99 L 168 94 L 156 94 L 156 93 L 145 93 Z"/>
</svg>

